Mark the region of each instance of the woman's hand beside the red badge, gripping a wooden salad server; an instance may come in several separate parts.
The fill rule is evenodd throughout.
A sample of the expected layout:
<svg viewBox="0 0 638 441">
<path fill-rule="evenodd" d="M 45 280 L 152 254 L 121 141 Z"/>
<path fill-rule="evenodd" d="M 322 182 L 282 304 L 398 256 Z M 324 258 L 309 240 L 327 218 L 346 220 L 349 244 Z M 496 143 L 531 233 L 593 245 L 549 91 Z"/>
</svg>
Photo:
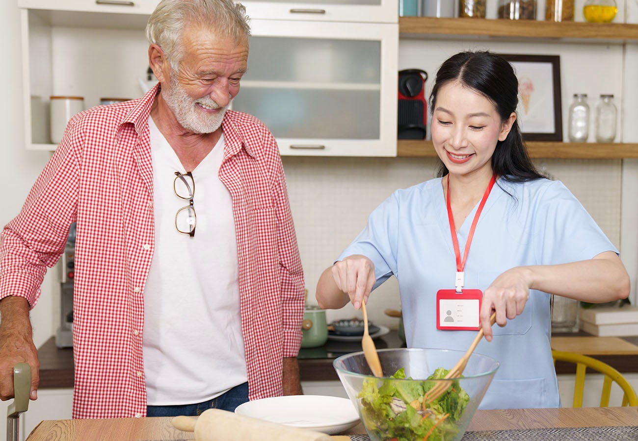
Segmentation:
<svg viewBox="0 0 638 441">
<path fill-rule="evenodd" d="M 496 323 L 505 326 L 507 320 L 523 314 L 525 303 L 530 297 L 530 278 L 524 266 L 517 266 L 496 277 L 483 293 L 480 308 L 480 322 L 485 339 L 492 341 L 492 327 L 489 317 L 496 311 Z"/>
</svg>

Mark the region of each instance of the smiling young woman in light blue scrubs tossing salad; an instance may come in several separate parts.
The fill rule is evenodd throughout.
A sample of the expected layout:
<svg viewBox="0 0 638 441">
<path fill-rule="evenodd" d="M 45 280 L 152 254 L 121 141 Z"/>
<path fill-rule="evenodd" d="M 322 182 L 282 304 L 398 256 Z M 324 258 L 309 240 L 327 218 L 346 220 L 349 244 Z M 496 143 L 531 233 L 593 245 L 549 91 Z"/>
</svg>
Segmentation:
<svg viewBox="0 0 638 441">
<path fill-rule="evenodd" d="M 501 362 L 482 408 L 559 407 L 550 294 L 604 302 L 630 290 L 616 247 L 531 164 L 517 89 L 490 52 L 443 62 L 430 96 L 439 177 L 383 201 L 316 289 L 322 308 L 360 308 L 394 275 L 408 347 L 465 351 L 482 326 L 476 352 Z"/>
</svg>

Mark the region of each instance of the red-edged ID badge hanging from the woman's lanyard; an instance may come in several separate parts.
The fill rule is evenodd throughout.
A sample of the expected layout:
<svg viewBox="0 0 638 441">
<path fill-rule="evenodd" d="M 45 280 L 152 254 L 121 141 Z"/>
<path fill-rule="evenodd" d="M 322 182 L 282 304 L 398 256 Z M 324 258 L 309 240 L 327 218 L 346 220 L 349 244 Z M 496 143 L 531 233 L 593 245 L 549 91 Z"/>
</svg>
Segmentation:
<svg viewBox="0 0 638 441">
<path fill-rule="evenodd" d="M 480 329 L 480 289 L 440 289 L 436 293 L 436 329 L 478 331 Z"/>
</svg>

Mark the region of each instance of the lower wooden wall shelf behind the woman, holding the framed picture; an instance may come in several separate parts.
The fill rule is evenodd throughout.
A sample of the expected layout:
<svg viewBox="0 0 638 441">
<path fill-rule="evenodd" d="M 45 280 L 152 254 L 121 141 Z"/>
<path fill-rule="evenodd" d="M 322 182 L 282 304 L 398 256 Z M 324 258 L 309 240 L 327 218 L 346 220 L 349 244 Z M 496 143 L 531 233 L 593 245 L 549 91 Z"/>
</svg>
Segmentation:
<svg viewBox="0 0 638 441">
<path fill-rule="evenodd" d="M 545 159 L 638 158 L 638 143 L 566 143 L 528 141 L 530 157 Z M 397 156 L 436 157 L 432 141 L 399 140 Z"/>
</svg>

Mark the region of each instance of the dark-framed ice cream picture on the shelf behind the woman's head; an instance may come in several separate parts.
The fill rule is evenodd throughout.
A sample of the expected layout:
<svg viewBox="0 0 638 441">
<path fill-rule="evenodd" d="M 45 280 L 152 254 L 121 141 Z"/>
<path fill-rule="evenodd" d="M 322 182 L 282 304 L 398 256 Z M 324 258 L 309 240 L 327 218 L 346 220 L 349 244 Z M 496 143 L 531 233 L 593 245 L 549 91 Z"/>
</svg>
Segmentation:
<svg viewBox="0 0 638 441">
<path fill-rule="evenodd" d="M 519 126 L 526 141 L 563 141 L 559 55 L 500 54 L 519 80 Z"/>
</svg>

